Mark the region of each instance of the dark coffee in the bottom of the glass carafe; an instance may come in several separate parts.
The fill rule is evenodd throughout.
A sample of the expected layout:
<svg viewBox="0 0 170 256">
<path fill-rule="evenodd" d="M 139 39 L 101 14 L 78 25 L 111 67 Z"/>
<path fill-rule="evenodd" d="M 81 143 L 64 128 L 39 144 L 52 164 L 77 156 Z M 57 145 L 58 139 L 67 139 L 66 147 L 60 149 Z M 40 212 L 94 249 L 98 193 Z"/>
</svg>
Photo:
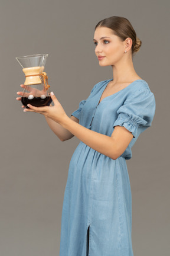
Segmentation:
<svg viewBox="0 0 170 256">
<path fill-rule="evenodd" d="M 29 108 L 27 104 L 34 105 L 34 107 L 45 107 L 51 104 L 52 99 L 50 96 L 47 96 L 44 99 L 42 99 L 41 97 L 34 97 L 32 100 L 29 100 L 26 97 L 21 97 L 21 102 L 26 108 Z"/>
</svg>

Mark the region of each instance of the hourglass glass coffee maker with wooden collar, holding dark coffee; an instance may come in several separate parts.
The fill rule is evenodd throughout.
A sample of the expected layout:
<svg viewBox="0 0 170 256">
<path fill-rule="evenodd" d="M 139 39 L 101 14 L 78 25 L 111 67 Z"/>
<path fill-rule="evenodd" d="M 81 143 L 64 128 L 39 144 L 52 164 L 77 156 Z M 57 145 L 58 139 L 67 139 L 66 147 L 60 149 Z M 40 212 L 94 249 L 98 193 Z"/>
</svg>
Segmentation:
<svg viewBox="0 0 170 256">
<path fill-rule="evenodd" d="M 25 88 L 21 102 L 26 108 L 29 108 L 27 104 L 43 107 L 50 105 L 52 102 L 48 76 L 44 72 L 47 57 L 47 54 L 16 57 L 22 66 L 22 71 L 25 73 Z"/>
</svg>

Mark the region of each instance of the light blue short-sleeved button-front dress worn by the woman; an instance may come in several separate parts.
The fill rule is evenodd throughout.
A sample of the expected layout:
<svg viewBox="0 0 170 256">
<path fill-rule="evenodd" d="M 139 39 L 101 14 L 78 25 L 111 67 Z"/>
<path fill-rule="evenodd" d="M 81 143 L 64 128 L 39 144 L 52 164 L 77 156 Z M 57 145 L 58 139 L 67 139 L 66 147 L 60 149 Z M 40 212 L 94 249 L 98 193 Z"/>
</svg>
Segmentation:
<svg viewBox="0 0 170 256">
<path fill-rule="evenodd" d="M 113 160 L 80 142 L 70 161 L 61 217 L 60 256 L 133 256 L 132 195 L 126 159 L 140 133 L 151 126 L 155 97 L 147 82 L 100 98 L 113 79 L 94 85 L 71 115 L 87 129 L 111 136 L 115 126 L 133 134 Z"/>
</svg>

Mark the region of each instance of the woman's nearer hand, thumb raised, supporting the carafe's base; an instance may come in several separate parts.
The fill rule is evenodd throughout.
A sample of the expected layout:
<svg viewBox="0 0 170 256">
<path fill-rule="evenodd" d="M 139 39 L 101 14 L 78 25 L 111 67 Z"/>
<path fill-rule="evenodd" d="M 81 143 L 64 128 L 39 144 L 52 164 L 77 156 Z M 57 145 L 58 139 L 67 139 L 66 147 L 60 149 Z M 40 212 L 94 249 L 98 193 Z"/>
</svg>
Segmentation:
<svg viewBox="0 0 170 256">
<path fill-rule="evenodd" d="M 28 104 L 29 108 L 25 108 L 24 112 L 35 112 L 35 113 L 43 114 L 45 117 L 49 117 L 50 119 L 61 124 L 64 121 L 64 119 L 66 119 L 68 116 L 64 111 L 63 107 L 61 106 L 60 102 L 55 97 L 54 93 L 51 92 L 50 95 L 53 100 L 54 106 L 34 107 L 31 104 Z"/>
</svg>

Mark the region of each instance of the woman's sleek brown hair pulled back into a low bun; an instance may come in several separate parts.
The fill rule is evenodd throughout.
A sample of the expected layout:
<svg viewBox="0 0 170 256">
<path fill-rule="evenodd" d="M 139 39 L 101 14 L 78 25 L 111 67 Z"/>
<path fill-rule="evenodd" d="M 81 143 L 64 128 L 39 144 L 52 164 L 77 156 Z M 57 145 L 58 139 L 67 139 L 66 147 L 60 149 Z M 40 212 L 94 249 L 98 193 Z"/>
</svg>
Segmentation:
<svg viewBox="0 0 170 256">
<path fill-rule="evenodd" d="M 122 41 L 125 41 L 126 38 L 130 37 L 130 39 L 132 39 L 132 55 L 139 51 L 142 41 L 136 37 L 136 32 L 128 19 L 119 16 L 112 16 L 99 21 L 95 30 L 97 27 L 111 28 L 113 30 L 113 34 L 120 37 Z"/>
</svg>

